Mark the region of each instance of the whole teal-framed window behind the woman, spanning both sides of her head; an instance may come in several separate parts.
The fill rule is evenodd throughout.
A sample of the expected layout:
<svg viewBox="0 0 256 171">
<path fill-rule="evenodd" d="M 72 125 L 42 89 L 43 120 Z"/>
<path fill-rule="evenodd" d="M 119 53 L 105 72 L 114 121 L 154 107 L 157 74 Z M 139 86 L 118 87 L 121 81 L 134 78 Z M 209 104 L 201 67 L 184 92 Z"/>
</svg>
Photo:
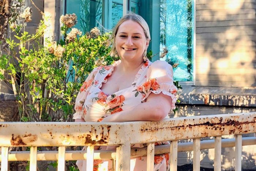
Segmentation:
<svg viewBox="0 0 256 171">
<path fill-rule="evenodd" d="M 193 85 L 194 0 L 66 0 L 65 12 L 78 16 L 76 28 L 83 34 L 101 25 L 112 29 L 123 11 L 141 15 L 150 28 L 148 50 L 153 54 L 167 47 L 169 53 L 160 60 L 173 66 L 174 80 Z M 159 55 L 153 58 L 158 60 Z"/>
</svg>

